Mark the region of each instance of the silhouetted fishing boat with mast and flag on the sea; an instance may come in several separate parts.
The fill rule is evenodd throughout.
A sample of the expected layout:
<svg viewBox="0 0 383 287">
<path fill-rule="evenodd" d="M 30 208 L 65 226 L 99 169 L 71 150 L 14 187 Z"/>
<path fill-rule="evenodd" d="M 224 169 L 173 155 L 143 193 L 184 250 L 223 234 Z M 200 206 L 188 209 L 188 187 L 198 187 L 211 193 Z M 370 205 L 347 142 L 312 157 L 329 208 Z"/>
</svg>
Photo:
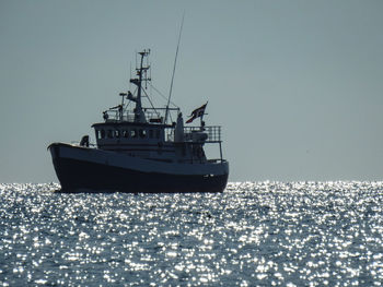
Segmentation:
<svg viewBox="0 0 383 287">
<path fill-rule="evenodd" d="M 222 156 L 221 127 L 204 121 L 208 103 L 186 122 L 171 94 L 166 105 L 151 105 L 149 53 L 144 49 L 136 56 L 136 74 L 129 81 L 135 91 L 120 93 L 120 104 L 103 111 L 103 120 L 92 125 L 95 144 L 84 135 L 78 143 L 48 146 L 60 192 L 224 191 L 229 163 Z M 198 119 L 199 124 L 192 125 Z M 208 144 L 217 158 L 207 157 Z"/>
</svg>

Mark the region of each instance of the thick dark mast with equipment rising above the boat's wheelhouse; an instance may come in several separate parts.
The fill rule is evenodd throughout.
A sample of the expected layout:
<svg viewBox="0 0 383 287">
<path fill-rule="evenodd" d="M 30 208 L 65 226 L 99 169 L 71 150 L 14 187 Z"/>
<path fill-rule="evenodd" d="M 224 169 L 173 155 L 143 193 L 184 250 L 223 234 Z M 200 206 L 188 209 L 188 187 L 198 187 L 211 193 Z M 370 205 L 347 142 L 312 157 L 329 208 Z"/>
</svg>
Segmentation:
<svg viewBox="0 0 383 287">
<path fill-rule="evenodd" d="M 139 52 L 141 56 L 140 67 L 136 68 L 138 79 L 130 79 L 130 83 L 134 83 L 137 85 L 137 97 L 128 97 L 130 100 L 136 101 L 136 108 L 135 108 L 135 122 L 147 122 L 147 119 L 144 117 L 144 112 L 142 110 L 142 104 L 141 104 L 141 94 L 142 94 L 142 82 L 143 81 L 150 81 L 150 79 L 147 77 L 147 71 L 149 70 L 149 65 L 143 65 L 143 58 L 148 57 L 150 53 L 150 50 L 143 50 Z"/>
</svg>

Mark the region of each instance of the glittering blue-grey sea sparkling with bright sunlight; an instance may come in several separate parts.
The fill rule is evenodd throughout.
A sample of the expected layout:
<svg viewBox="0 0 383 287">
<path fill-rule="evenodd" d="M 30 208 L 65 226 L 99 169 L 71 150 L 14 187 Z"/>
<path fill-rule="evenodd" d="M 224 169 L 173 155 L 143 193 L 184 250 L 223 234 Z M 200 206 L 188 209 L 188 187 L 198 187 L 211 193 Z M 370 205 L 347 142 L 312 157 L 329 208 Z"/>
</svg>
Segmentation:
<svg viewBox="0 0 383 287">
<path fill-rule="evenodd" d="M 0 286 L 382 286 L 383 182 L 0 184 Z"/>
</svg>

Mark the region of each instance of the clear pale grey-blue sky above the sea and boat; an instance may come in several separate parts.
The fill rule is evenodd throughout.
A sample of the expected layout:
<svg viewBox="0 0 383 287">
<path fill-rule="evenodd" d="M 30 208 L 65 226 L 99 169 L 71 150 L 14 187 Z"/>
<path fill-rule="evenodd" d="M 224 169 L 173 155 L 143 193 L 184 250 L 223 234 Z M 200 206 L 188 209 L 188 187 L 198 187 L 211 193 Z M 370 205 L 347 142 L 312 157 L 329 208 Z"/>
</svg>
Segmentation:
<svg viewBox="0 0 383 287">
<path fill-rule="evenodd" d="M 0 0 L 0 182 L 57 181 L 151 48 L 184 115 L 209 100 L 230 180 L 383 180 L 383 1 Z M 165 104 L 163 104 L 165 105 Z"/>
</svg>

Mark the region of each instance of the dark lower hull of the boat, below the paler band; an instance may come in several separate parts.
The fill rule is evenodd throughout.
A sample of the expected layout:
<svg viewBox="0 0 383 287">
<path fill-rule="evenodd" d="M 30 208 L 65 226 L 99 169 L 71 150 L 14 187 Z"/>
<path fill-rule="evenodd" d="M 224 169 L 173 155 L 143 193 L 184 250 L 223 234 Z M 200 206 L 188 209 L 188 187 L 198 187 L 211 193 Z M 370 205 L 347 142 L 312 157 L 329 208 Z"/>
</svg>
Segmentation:
<svg viewBox="0 0 383 287">
<path fill-rule="evenodd" d="M 61 192 L 222 192 L 228 175 L 184 176 L 141 172 L 132 169 L 54 157 Z"/>
</svg>

